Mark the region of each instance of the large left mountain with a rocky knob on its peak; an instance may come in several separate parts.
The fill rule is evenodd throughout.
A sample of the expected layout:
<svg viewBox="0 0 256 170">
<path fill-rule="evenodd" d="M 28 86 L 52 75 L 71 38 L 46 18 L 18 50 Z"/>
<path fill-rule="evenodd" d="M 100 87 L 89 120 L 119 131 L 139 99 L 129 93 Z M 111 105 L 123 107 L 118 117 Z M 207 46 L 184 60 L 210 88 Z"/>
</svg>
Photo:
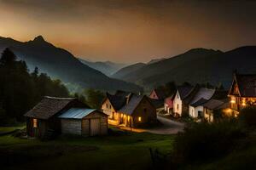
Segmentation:
<svg viewBox="0 0 256 170">
<path fill-rule="evenodd" d="M 56 48 L 42 36 L 35 37 L 29 42 L 0 37 L 0 51 L 4 48 L 10 48 L 19 59 L 25 60 L 31 71 L 38 66 L 39 71 L 46 72 L 50 77 L 78 84 L 82 88 L 109 91 L 123 89 L 135 92 L 141 89 L 130 82 L 109 78 L 102 72 L 82 64 L 73 54 L 63 48 Z"/>
</svg>

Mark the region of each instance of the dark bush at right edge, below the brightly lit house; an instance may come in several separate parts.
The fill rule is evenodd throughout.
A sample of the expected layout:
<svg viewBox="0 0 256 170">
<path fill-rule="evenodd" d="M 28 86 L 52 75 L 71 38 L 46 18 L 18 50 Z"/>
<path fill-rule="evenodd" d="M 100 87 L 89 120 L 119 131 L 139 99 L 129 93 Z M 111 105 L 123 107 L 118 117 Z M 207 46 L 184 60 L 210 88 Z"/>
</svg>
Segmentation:
<svg viewBox="0 0 256 170">
<path fill-rule="evenodd" d="M 256 107 L 248 106 L 242 109 L 238 116 L 239 121 L 245 127 L 256 127 Z"/>
</svg>

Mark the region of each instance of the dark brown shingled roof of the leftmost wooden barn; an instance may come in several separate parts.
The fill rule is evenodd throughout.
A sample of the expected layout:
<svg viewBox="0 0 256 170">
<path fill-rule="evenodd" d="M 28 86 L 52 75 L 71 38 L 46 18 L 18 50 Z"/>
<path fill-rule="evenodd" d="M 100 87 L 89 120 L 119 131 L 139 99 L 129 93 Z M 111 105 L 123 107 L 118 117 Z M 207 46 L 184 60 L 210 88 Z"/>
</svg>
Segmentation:
<svg viewBox="0 0 256 170">
<path fill-rule="evenodd" d="M 34 106 L 32 110 L 28 111 L 24 116 L 34 117 L 38 119 L 49 119 L 51 116 L 59 113 L 69 103 L 76 100 L 75 98 L 55 98 L 45 96 L 38 105 Z"/>
</svg>

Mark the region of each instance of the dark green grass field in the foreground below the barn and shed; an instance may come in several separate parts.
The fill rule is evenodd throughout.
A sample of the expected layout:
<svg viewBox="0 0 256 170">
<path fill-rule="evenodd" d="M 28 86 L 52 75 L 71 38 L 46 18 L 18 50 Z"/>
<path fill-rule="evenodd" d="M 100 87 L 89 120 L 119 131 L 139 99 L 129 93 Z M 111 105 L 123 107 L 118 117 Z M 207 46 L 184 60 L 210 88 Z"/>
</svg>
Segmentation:
<svg viewBox="0 0 256 170">
<path fill-rule="evenodd" d="M 5 135 L 0 137 L 0 156 L 4 169 L 150 169 L 148 149 L 168 154 L 173 138 L 151 133 L 116 133 L 42 142 Z"/>
</svg>

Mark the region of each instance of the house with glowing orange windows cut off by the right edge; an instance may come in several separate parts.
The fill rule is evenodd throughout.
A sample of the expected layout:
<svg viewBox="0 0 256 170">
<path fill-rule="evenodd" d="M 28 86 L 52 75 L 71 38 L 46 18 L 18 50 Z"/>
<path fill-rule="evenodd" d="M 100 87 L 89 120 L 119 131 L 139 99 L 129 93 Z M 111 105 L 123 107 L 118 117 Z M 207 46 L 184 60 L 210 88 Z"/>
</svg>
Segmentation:
<svg viewBox="0 0 256 170">
<path fill-rule="evenodd" d="M 256 105 L 256 75 L 234 73 L 229 97 L 230 108 L 236 114 L 247 105 Z"/>
</svg>

